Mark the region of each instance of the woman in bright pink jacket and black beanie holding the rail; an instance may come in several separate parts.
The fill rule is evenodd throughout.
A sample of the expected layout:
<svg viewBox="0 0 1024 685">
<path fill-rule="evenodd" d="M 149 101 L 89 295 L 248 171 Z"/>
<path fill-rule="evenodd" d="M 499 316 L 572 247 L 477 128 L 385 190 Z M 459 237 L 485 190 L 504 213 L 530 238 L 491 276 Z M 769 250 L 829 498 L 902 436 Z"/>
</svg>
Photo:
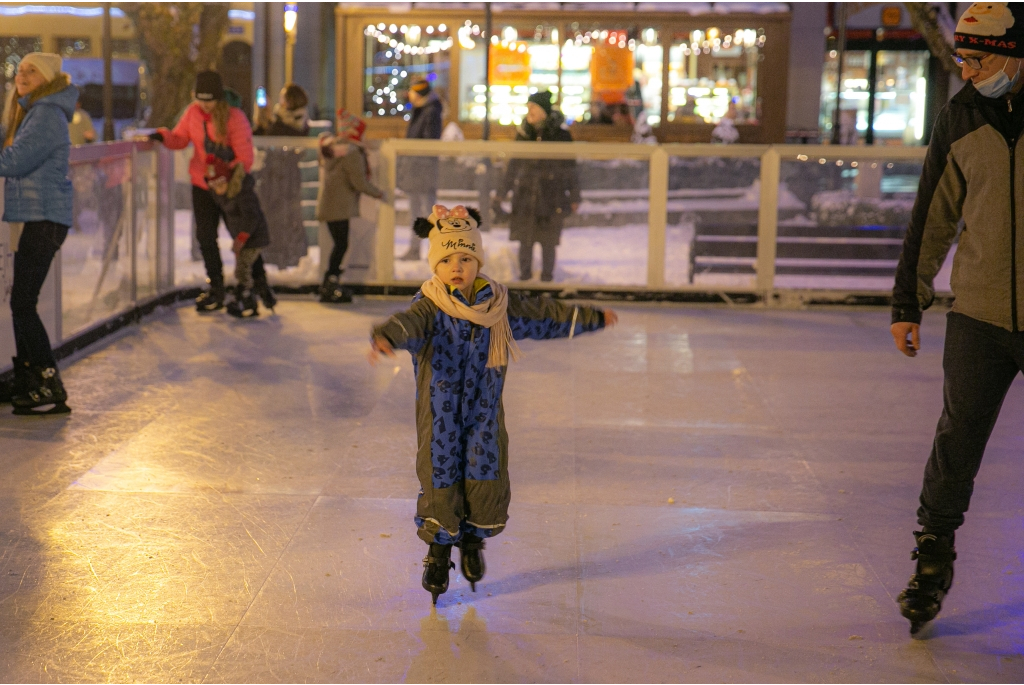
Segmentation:
<svg viewBox="0 0 1024 685">
<path fill-rule="evenodd" d="M 248 173 L 253 165 L 253 131 L 245 113 L 224 100 L 224 85 L 217 72 L 201 72 L 196 76 L 194 96 L 196 101 L 188 105 L 174 130 L 159 128 L 150 138 L 171 149 L 184 149 L 190 142 L 195 149 L 188 164 L 193 214 L 210 284 L 209 290 L 196 298 L 196 308 L 213 311 L 224 306 L 224 266 L 217 248 L 217 226 L 222 213 L 206 183 L 207 157 L 213 155 L 229 164 L 241 164 Z M 253 290 L 264 306 L 273 308 L 278 300 L 266 282 L 262 257 L 253 264 Z"/>
</svg>

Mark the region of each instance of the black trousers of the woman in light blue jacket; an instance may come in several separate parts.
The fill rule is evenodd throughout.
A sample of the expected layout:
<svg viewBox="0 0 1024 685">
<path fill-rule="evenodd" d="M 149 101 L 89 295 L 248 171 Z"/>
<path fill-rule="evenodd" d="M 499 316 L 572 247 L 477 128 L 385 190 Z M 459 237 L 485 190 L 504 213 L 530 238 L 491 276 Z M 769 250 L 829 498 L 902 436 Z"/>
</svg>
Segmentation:
<svg viewBox="0 0 1024 685">
<path fill-rule="evenodd" d="M 28 221 L 14 253 L 14 283 L 10 291 L 10 314 L 14 345 L 19 359 L 52 367 L 50 337 L 39 317 L 39 292 L 50 271 L 57 250 L 68 238 L 69 227 L 52 221 Z"/>
</svg>

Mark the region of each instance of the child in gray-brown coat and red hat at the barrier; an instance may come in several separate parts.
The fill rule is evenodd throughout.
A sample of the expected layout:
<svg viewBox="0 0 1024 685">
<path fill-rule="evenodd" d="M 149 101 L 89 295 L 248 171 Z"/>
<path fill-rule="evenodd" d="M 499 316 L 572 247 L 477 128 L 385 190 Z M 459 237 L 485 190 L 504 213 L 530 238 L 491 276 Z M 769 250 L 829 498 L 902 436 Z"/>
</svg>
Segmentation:
<svg viewBox="0 0 1024 685">
<path fill-rule="evenodd" d="M 370 182 L 370 162 L 362 148 L 367 123 L 338 110 L 338 134 L 319 137 L 321 188 L 316 220 L 326 221 L 334 241 L 321 286 L 321 302 L 351 302 L 339 283 L 341 261 L 348 251 L 348 220 L 359 215 L 359 194 L 381 199 L 384 191 Z"/>
</svg>

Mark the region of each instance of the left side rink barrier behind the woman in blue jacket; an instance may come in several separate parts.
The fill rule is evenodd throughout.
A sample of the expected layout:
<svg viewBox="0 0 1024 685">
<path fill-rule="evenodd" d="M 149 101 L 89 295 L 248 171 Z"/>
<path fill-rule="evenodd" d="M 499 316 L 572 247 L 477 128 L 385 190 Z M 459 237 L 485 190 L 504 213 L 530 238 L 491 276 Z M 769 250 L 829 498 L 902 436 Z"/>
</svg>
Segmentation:
<svg viewBox="0 0 1024 685">
<path fill-rule="evenodd" d="M 118 319 L 155 306 L 174 291 L 173 153 L 147 141 L 116 141 L 75 146 L 69 161 L 74 225 L 39 302 L 54 349 L 83 337 L 102 337 Z M 0 222 L 2 360 L 14 355 L 10 239 L 10 226 Z M 9 368 L 0 361 L 0 371 Z"/>
</svg>

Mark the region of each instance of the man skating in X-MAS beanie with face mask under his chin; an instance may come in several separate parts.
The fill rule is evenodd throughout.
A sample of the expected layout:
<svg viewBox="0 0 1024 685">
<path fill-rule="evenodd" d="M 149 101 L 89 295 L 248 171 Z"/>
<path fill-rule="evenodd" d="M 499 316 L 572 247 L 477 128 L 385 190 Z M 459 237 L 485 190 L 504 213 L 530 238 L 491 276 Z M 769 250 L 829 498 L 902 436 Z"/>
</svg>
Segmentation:
<svg viewBox="0 0 1024 685">
<path fill-rule="evenodd" d="M 963 220 L 942 416 L 913 533 L 918 564 L 899 596 L 911 633 L 938 614 L 952 585 L 954 533 L 999 408 L 1024 369 L 1024 203 L 1014 202 L 1024 185 L 1024 5 L 971 5 L 954 43 L 968 83 L 935 122 L 893 289 L 893 339 L 915 356 L 922 310 L 935 299 L 935 275 Z"/>
</svg>

